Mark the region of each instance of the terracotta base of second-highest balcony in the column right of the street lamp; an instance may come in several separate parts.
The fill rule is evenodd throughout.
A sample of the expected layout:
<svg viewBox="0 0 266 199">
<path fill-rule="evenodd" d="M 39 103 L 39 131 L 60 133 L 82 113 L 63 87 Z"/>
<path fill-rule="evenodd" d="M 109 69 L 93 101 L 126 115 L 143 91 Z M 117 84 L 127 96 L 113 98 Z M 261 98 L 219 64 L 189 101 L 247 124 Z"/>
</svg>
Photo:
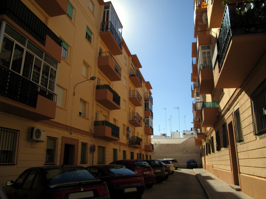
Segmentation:
<svg viewBox="0 0 266 199">
<path fill-rule="evenodd" d="M 111 81 L 121 80 L 121 77 L 115 71 L 115 63 L 110 56 L 98 57 L 98 67 Z"/>
</svg>

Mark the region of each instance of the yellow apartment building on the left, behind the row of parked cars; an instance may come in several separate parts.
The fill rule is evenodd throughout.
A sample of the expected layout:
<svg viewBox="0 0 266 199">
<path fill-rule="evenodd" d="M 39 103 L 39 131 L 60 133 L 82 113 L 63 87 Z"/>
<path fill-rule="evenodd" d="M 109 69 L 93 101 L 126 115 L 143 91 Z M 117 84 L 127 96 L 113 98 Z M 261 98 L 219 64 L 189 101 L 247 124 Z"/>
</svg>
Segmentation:
<svg viewBox="0 0 266 199">
<path fill-rule="evenodd" d="M 26 168 L 151 159 L 152 86 L 111 2 L 0 2 L 0 184 Z"/>
</svg>

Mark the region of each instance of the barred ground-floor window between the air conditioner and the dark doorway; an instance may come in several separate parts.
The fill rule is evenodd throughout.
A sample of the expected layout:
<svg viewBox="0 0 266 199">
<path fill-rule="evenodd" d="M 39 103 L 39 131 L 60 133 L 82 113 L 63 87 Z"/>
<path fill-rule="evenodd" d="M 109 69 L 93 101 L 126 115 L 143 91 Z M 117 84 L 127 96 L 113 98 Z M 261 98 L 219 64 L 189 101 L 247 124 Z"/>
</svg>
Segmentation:
<svg viewBox="0 0 266 199">
<path fill-rule="evenodd" d="M 56 137 L 47 136 L 46 160 L 44 165 L 56 165 L 57 140 L 58 138 Z"/>
</svg>

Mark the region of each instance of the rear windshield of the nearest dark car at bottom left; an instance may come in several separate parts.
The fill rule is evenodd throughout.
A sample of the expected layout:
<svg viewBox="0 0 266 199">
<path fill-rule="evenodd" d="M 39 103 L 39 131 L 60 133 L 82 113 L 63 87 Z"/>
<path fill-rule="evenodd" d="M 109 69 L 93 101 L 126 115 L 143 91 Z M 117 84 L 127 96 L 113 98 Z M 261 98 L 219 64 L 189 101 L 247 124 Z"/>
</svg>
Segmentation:
<svg viewBox="0 0 266 199">
<path fill-rule="evenodd" d="M 45 174 L 48 184 L 96 179 L 89 171 L 81 167 L 48 169 L 45 170 Z"/>
</svg>

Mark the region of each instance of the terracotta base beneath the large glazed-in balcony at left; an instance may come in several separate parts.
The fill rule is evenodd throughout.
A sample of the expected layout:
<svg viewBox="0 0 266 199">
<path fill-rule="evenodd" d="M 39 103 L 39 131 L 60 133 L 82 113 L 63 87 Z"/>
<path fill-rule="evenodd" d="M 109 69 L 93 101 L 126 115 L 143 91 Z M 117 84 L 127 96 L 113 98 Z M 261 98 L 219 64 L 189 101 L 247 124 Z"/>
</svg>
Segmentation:
<svg viewBox="0 0 266 199">
<path fill-rule="evenodd" d="M 0 110 L 35 121 L 55 119 L 56 102 L 38 95 L 36 109 L 22 103 L 0 97 Z"/>
</svg>

